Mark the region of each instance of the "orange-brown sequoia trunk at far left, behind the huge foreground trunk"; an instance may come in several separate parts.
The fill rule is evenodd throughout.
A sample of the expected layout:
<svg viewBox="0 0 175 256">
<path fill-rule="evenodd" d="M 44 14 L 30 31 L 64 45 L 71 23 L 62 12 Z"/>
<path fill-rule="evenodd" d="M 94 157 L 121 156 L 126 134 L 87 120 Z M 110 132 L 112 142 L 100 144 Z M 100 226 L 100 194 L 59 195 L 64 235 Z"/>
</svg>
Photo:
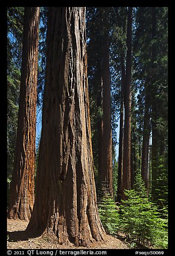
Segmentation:
<svg viewBox="0 0 175 256">
<path fill-rule="evenodd" d="M 9 218 L 28 221 L 34 203 L 39 7 L 24 14 L 23 56 L 16 152 L 10 189 Z"/>
</svg>

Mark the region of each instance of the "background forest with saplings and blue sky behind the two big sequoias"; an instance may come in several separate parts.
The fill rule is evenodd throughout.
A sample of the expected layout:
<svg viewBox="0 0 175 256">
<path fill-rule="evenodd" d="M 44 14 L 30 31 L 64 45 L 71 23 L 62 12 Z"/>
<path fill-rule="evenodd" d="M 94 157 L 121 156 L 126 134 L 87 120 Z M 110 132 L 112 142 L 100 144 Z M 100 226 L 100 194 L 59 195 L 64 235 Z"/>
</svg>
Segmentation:
<svg viewBox="0 0 175 256">
<path fill-rule="evenodd" d="M 167 7 L 86 7 L 94 178 L 108 234 L 167 248 Z M 8 204 L 16 150 L 24 7 L 7 10 Z M 47 8 L 40 7 L 37 175 L 46 76 Z"/>
</svg>

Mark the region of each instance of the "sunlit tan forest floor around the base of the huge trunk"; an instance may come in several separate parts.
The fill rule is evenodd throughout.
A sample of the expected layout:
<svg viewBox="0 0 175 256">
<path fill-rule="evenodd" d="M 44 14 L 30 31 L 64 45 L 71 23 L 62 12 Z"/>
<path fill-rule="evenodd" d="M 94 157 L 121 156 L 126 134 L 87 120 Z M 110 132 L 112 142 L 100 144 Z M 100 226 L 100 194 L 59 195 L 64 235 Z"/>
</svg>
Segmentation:
<svg viewBox="0 0 175 256">
<path fill-rule="evenodd" d="M 28 222 L 20 221 L 19 219 L 8 219 L 8 249 L 129 249 L 128 243 L 125 242 L 125 238 L 112 237 L 106 235 L 104 242 L 94 242 L 91 247 L 76 247 L 74 244 L 60 245 L 57 241 L 57 237 L 48 237 L 46 234 L 42 234 L 40 237 L 27 238 L 25 235 L 25 229 Z"/>
</svg>

